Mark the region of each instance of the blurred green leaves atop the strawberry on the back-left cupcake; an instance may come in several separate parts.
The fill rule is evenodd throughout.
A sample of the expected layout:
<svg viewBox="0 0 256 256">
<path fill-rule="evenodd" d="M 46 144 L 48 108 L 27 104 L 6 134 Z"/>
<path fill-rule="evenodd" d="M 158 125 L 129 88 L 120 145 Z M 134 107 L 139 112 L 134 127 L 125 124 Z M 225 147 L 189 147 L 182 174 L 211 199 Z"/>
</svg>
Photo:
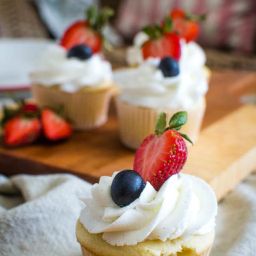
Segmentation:
<svg viewBox="0 0 256 256">
<path fill-rule="evenodd" d="M 86 21 L 94 31 L 102 33 L 102 30 L 106 26 L 109 18 L 113 15 L 113 9 L 105 7 L 101 10 L 98 10 L 98 7 L 96 5 L 92 5 L 86 11 Z"/>
</svg>

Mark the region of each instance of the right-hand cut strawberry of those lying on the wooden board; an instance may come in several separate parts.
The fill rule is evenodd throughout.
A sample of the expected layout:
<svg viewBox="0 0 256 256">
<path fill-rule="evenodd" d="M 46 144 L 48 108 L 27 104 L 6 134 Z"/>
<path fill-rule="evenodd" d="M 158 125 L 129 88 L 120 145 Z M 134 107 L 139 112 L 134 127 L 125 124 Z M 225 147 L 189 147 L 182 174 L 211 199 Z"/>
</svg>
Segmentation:
<svg viewBox="0 0 256 256">
<path fill-rule="evenodd" d="M 68 138 L 72 134 L 71 124 L 51 109 L 41 111 L 43 132 L 49 140 Z"/>
</svg>

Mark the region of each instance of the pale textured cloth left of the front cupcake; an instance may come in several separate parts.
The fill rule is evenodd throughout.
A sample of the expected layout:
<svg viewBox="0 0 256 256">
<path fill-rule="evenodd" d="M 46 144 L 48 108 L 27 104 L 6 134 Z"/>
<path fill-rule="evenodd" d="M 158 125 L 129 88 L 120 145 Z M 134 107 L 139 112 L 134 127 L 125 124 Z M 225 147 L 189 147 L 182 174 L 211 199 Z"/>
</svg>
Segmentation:
<svg viewBox="0 0 256 256">
<path fill-rule="evenodd" d="M 78 198 L 90 186 L 69 174 L 0 176 L 0 255 L 81 255 L 75 227 L 84 203 Z"/>
</svg>

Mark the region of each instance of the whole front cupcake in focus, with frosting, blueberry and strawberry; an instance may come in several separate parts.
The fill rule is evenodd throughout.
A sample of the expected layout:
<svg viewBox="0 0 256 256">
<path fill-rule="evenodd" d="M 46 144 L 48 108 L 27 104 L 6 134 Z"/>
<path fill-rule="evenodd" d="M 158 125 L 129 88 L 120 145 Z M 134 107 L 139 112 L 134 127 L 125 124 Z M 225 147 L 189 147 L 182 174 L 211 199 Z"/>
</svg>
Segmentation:
<svg viewBox="0 0 256 256">
<path fill-rule="evenodd" d="M 83 256 L 210 254 L 217 199 L 205 181 L 179 173 L 187 147 L 173 128 L 183 117 L 175 118 L 165 129 L 161 114 L 156 134 L 135 154 L 134 170 L 101 177 L 92 196 L 82 198 L 76 236 Z"/>
</svg>

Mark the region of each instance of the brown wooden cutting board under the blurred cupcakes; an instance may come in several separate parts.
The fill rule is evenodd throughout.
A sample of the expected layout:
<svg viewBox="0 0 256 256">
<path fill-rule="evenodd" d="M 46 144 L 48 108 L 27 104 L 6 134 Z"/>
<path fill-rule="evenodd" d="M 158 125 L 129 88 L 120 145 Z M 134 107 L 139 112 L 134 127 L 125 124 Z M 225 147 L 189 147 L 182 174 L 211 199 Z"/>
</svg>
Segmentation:
<svg viewBox="0 0 256 256">
<path fill-rule="evenodd" d="M 218 199 L 256 169 L 256 106 L 239 103 L 241 95 L 256 93 L 255 83 L 255 73 L 216 71 L 212 75 L 203 131 L 189 148 L 183 172 L 209 182 Z M 117 130 L 111 106 L 104 126 L 76 132 L 66 142 L 18 149 L 1 146 L 0 173 L 64 172 L 96 182 L 101 175 L 132 168 L 134 152 L 122 146 Z"/>
</svg>

